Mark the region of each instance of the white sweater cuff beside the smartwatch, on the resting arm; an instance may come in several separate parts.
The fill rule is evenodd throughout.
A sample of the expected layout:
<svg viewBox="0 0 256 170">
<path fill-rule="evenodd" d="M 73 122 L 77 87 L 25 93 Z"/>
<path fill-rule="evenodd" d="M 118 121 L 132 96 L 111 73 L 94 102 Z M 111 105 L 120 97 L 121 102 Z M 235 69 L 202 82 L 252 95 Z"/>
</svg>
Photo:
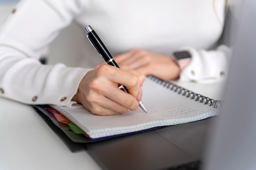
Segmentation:
<svg viewBox="0 0 256 170">
<path fill-rule="evenodd" d="M 197 50 L 192 47 L 182 47 L 189 51 L 191 62 L 180 73 L 180 81 L 220 81 L 226 79 L 229 70 L 231 49 L 219 45 L 216 50 Z"/>
</svg>

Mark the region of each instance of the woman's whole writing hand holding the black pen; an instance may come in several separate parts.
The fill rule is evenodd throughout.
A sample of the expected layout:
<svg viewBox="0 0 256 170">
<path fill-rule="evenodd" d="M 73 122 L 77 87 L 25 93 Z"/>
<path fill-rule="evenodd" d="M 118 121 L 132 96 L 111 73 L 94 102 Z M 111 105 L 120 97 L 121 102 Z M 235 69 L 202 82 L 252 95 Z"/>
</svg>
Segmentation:
<svg viewBox="0 0 256 170">
<path fill-rule="evenodd" d="M 89 71 L 81 80 L 78 91 L 72 98 L 96 115 L 115 115 L 128 109 L 136 110 L 141 100 L 145 76 L 128 66 L 120 68 L 103 64 Z M 126 86 L 129 93 L 119 85 Z"/>
</svg>

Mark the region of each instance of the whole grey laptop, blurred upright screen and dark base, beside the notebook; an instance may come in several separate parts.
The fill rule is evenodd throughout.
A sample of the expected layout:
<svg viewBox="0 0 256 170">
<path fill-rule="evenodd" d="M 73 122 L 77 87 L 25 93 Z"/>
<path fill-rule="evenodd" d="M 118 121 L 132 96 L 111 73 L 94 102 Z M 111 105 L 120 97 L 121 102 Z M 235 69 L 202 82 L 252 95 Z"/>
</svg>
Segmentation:
<svg viewBox="0 0 256 170">
<path fill-rule="evenodd" d="M 104 170 L 256 170 L 256 1 L 240 7 L 221 115 L 88 144 Z"/>
</svg>

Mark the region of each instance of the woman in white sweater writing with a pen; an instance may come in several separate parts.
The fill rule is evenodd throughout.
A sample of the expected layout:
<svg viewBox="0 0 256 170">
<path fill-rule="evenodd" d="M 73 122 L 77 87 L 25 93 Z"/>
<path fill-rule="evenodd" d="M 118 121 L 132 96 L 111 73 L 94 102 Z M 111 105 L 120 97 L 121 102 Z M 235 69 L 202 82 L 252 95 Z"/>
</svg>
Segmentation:
<svg viewBox="0 0 256 170">
<path fill-rule="evenodd" d="M 225 7 L 225 0 L 21 0 L 0 27 L 0 95 L 26 104 L 78 103 L 111 115 L 138 108 L 144 75 L 224 79 L 230 50 L 218 41 Z M 91 25 L 128 67 L 40 64 L 45 46 L 73 20 Z M 185 52 L 186 62 L 173 59 L 175 51 Z"/>
</svg>

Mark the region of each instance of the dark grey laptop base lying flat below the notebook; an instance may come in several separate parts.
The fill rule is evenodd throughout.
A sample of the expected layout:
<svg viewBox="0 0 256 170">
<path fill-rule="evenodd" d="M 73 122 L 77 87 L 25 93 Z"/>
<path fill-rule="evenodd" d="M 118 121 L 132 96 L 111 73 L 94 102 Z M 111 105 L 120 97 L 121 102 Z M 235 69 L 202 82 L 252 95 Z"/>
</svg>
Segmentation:
<svg viewBox="0 0 256 170">
<path fill-rule="evenodd" d="M 99 141 L 88 144 L 87 152 L 104 170 L 167 170 L 187 163 L 198 167 L 214 121 L 204 119 Z"/>
</svg>

